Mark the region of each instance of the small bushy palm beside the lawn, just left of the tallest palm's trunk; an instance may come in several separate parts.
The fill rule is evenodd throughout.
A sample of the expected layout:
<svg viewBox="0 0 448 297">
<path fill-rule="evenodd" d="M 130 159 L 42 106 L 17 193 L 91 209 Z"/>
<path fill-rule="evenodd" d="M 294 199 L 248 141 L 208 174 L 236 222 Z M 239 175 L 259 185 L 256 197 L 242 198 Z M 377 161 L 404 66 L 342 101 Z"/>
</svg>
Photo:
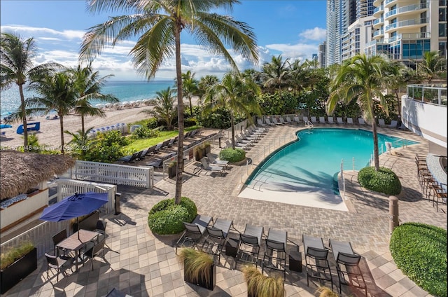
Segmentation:
<svg viewBox="0 0 448 297">
<path fill-rule="evenodd" d="M 141 112 L 160 118 L 167 123 L 167 129 L 172 130 L 172 123 L 177 112 L 177 108 L 174 106 L 174 102 L 176 102 L 174 92 L 176 92 L 176 90 L 169 87 L 166 90 L 156 92 L 157 96 L 155 97 L 155 105 L 153 106 L 153 109 Z"/>
</svg>

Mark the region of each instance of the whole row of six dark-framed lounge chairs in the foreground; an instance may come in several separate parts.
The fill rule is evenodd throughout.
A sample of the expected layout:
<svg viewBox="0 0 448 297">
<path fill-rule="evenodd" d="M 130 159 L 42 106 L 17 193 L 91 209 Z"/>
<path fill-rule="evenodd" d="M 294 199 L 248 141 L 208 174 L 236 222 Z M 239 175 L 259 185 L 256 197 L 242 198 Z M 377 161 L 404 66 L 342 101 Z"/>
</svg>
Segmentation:
<svg viewBox="0 0 448 297">
<path fill-rule="evenodd" d="M 286 244 L 290 240 L 285 231 L 269 228 L 268 234 L 265 235 L 263 227 L 246 224 L 244 232 L 241 233 L 233 226 L 231 220 L 221 218 L 214 220 L 211 216 L 203 215 L 197 215 L 193 222 L 184 222 L 183 224 L 186 231 L 176 242 L 176 254 L 179 247 L 188 246 L 209 252 L 217 256 L 219 261 L 223 249 L 225 249 L 227 256 L 235 258 L 235 268 L 238 261 L 252 263 L 255 266 L 261 262 L 262 272 L 274 269 L 283 272 L 283 276 L 286 276 Z M 230 236 L 230 230 L 234 230 L 237 237 Z M 264 246 L 262 240 L 265 241 Z M 328 252 L 331 250 L 339 280 L 339 293 L 342 293 L 342 286 L 349 286 L 352 289 L 365 291 L 365 296 L 367 296 L 367 284 L 359 266 L 361 256 L 353 251 L 350 242 L 329 240 L 329 248 L 327 248 L 321 237 L 302 235 L 302 243 L 307 269 L 307 284 L 309 284 L 309 278 L 314 278 L 319 281 L 329 281 L 333 286 L 328 259 Z M 265 252 L 260 258 L 260 251 L 263 247 Z M 291 255 L 297 254 L 298 249 L 298 245 L 295 244 L 295 249 L 289 251 L 290 270 L 295 270 L 292 268 L 291 262 L 294 259 L 291 258 Z M 300 253 L 298 254 L 300 255 Z"/>
</svg>

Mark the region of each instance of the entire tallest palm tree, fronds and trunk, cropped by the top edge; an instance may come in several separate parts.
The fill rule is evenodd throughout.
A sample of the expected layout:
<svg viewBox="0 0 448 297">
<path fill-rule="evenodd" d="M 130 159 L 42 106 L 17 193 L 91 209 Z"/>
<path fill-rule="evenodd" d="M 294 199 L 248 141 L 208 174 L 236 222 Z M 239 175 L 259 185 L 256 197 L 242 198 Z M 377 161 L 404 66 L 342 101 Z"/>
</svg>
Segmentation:
<svg viewBox="0 0 448 297">
<path fill-rule="evenodd" d="M 258 51 L 252 28 L 230 15 L 210 11 L 232 11 L 237 0 L 88 0 L 88 9 L 94 13 L 103 11 L 132 11 L 130 15 L 109 18 L 91 27 L 84 36 L 80 57 L 99 54 L 106 43 L 114 46 L 118 41 L 139 36 L 130 54 L 134 67 L 151 79 L 162 62 L 169 57 L 176 60 L 177 105 L 179 139 L 177 146 L 177 175 L 175 201 L 179 204 L 183 179 L 183 93 L 181 68 L 181 33 L 196 37 L 197 42 L 230 62 L 237 64 L 226 49 L 227 44 L 245 59 L 258 62 Z"/>
</svg>

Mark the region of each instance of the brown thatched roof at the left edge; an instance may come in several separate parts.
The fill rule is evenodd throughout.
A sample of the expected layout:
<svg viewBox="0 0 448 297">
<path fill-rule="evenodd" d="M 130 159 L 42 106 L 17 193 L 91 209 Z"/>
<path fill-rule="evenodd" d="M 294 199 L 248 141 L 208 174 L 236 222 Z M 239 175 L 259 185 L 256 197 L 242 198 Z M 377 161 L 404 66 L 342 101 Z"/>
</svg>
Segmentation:
<svg viewBox="0 0 448 297">
<path fill-rule="evenodd" d="M 69 156 L 0 151 L 0 199 L 25 193 L 75 165 Z"/>
</svg>

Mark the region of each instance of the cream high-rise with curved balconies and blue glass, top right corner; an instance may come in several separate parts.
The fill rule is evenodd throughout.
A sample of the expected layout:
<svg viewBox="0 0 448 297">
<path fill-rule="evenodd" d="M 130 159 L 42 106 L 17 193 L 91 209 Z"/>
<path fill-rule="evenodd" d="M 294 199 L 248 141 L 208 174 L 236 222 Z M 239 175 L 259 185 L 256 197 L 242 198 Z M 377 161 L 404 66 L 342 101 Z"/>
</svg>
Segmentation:
<svg viewBox="0 0 448 297">
<path fill-rule="evenodd" d="M 447 0 L 375 0 L 373 41 L 365 53 L 412 64 L 427 51 L 447 57 Z"/>
</svg>

